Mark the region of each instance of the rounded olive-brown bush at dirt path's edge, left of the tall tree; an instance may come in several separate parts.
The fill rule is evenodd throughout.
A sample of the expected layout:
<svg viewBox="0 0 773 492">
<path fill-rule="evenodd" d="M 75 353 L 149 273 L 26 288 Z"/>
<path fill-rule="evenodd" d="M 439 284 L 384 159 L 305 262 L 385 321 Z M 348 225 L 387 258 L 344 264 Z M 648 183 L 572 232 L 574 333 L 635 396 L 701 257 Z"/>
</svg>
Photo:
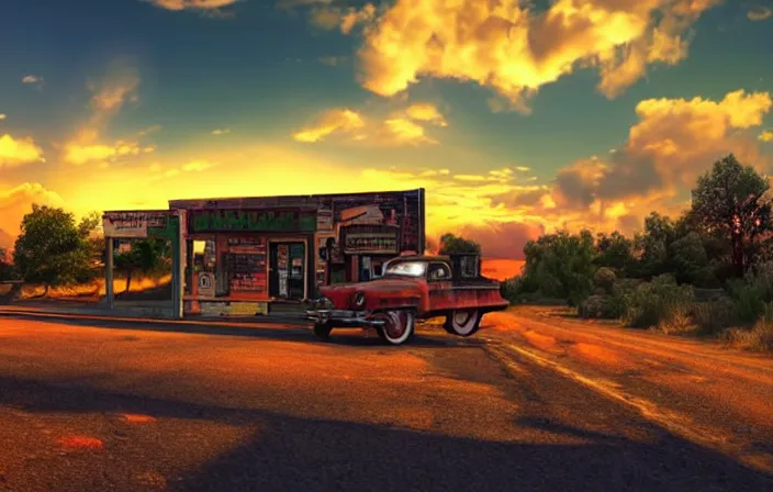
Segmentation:
<svg viewBox="0 0 773 492">
<path fill-rule="evenodd" d="M 694 299 L 692 286 L 679 286 L 671 275 L 642 282 L 630 295 L 624 295 L 625 321 L 631 327 L 647 328 L 680 324 L 687 317 Z"/>
</svg>

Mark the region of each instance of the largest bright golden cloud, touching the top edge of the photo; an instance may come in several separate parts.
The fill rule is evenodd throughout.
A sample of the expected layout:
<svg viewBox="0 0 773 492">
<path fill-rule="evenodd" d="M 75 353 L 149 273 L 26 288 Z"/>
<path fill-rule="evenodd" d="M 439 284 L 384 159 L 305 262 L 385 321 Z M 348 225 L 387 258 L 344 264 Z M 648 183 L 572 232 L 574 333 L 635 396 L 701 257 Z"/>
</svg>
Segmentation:
<svg viewBox="0 0 773 492">
<path fill-rule="evenodd" d="M 517 0 L 397 0 L 365 27 L 361 81 L 385 97 L 422 77 L 474 81 L 524 111 L 540 87 L 596 66 L 613 98 L 648 65 L 684 59 L 685 33 L 719 1 L 558 0 L 537 12 Z"/>
</svg>

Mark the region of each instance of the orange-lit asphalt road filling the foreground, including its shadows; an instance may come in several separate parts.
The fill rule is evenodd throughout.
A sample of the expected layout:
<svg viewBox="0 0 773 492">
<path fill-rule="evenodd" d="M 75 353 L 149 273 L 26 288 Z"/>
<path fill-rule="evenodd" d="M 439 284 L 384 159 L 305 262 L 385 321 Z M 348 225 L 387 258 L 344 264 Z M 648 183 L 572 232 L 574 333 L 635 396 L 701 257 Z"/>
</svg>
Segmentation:
<svg viewBox="0 0 773 492">
<path fill-rule="evenodd" d="M 0 317 L 0 491 L 773 490 L 506 348 Z"/>
</svg>

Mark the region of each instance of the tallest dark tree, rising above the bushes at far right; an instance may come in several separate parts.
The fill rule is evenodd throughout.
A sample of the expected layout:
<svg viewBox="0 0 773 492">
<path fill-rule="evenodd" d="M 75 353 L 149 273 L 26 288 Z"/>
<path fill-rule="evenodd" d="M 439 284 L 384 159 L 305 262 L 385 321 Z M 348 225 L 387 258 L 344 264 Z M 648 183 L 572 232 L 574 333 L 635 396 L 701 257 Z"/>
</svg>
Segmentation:
<svg viewBox="0 0 773 492">
<path fill-rule="evenodd" d="M 773 228 L 769 189 L 766 178 L 730 154 L 699 177 L 692 192 L 692 213 L 709 234 L 719 232 L 730 243 L 738 277 L 753 262 L 758 239 Z"/>
</svg>

